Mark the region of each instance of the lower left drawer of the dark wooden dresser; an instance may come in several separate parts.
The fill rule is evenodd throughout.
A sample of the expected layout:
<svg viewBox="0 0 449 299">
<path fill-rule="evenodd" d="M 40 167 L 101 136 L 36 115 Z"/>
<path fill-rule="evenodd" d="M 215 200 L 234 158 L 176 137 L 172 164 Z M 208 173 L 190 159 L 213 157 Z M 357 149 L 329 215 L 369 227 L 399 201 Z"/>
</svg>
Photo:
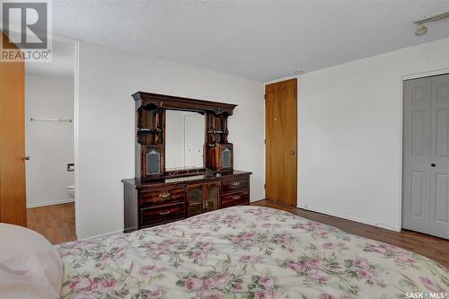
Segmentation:
<svg viewBox="0 0 449 299">
<path fill-rule="evenodd" d="M 186 217 L 185 204 L 149 207 L 140 210 L 140 226 L 165 224 Z"/>
</svg>

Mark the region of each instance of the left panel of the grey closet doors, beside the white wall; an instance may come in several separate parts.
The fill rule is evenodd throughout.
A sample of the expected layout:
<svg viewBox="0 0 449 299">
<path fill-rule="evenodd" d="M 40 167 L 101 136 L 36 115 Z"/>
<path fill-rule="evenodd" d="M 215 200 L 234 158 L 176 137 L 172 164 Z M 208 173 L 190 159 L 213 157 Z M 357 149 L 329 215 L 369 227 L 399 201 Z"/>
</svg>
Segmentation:
<svg viewBox="0 0 449 299">
<path fill-rule="evenodd" d="M 402 227 L 429 231 L 430 78 L 404 82 L 403 201 Z"/>
</svg>

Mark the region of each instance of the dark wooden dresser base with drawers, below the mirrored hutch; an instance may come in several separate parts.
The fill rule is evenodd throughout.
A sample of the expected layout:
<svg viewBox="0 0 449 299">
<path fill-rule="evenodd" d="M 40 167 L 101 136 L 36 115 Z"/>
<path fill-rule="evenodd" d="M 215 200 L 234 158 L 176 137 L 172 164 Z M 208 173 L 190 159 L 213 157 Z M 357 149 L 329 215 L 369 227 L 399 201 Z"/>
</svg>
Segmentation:
<svg viewBox="0 0 449 299">
<path fill-rule="evenodd" d="M 218 208 L 248 205 L 250 175 L 248 171 L 232 171 L 152 182 L 122 180 L 125 192 L 124 233 Z"/>
</svg>

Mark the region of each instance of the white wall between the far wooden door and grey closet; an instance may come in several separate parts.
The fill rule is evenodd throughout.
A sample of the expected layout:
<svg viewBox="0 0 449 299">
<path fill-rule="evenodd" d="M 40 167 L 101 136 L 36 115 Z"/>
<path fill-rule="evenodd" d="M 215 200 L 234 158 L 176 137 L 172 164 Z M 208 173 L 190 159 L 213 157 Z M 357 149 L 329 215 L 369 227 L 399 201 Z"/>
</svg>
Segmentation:
<svg viewBox="0 0 449 299">
<path fill-rule="evenodd" d="M 300 207 L 399 230 L 402 78 L 447 67 L 444 39 L 300 75 Z"/>
</svg>

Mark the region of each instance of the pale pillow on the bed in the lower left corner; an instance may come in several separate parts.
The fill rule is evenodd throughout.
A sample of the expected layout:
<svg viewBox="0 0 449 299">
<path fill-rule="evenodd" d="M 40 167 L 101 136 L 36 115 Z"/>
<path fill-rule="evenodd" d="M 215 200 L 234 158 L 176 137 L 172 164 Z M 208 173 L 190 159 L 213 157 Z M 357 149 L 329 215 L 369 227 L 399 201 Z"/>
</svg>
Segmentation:
<svg viewBox="0 0 449 299">
<path fill-rule="evenodd" d="M 8 299 L 57 299 L 63 264 L 40 233 L 0 224 L 0 294 Z"/>
</svg>

